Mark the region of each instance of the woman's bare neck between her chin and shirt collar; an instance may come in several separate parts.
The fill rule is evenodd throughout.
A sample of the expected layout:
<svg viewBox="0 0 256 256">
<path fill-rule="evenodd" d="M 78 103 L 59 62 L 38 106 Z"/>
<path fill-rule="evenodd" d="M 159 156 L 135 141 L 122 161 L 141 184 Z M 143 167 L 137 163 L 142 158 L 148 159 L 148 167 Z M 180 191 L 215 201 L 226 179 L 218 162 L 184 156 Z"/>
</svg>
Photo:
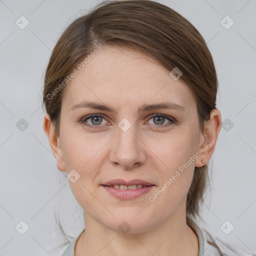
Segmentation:
<svg viewBox="0 0 256 256">
<path fill-rule="evenodd" d="M 139 255 L 198 256 L 198 238 L 186 224 L 185 215 L 171 216 L 140 233 L 114 231 L 84 212 L 85 231 L 77 239 L 74 256 Z"/>
</svg>

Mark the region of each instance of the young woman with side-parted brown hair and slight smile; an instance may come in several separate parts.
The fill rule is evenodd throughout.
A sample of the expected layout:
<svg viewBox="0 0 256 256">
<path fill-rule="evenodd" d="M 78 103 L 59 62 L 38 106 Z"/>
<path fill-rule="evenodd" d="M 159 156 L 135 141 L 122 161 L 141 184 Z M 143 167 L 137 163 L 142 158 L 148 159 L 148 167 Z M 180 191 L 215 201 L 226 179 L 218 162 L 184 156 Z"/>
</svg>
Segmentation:
<svg viewBox="0 0 256 256">
<path fill-rule="evenodd" d="M 194 221 L 221 127 L 216 93 L 202 36 L 160 3 L 102 2 L 65 29 L 43 127 L 85 228 L 62 255 L 227 251 Z"/>
</svg>

